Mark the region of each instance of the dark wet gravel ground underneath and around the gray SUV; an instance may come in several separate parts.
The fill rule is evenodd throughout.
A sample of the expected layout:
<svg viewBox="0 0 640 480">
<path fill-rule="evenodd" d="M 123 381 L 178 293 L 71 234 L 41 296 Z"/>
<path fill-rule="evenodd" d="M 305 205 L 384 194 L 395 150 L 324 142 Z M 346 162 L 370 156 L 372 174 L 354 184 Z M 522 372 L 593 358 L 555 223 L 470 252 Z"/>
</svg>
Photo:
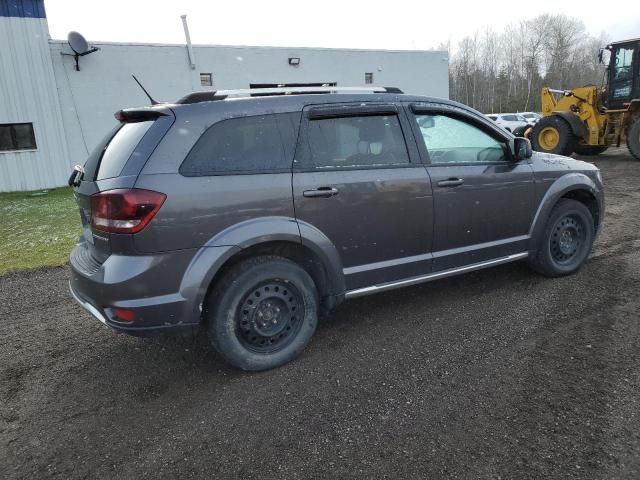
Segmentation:
<svg viewBox="0 0 640 480">
<path fill-rule="evenodd" d="M 353 300 L 261 374 L 112 333 L 67 268 L 0 277 L 0 477 L 640 478 L 640 162 L 596 163 L 606 225 L 577 275 Z"/>
</svg>

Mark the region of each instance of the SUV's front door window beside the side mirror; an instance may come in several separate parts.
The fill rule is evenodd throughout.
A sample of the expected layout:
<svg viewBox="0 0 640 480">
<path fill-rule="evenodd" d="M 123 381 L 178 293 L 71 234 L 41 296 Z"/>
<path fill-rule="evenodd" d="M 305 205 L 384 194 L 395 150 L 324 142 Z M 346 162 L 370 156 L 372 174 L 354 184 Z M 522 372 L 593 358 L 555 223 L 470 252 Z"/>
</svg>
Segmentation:
<svg viewBox="0 0 640 480">
<path fill-rule="evenodd" d="M 479 128 L 444 115 L 416 115 L 431 163 L 506 160 L 504 144 Z"/>
</svg>

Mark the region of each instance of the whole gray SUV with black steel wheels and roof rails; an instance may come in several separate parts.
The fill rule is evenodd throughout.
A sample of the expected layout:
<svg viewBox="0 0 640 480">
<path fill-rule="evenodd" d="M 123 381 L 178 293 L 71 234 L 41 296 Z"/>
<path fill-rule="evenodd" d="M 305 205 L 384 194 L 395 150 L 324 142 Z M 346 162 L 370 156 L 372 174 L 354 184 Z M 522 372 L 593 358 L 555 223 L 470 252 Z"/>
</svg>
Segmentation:
<svg viewBox="0 0 640 480">
<path fill-rule="evenodd" d="M 192 334 L 246 370 L 344 299 L 526 260 L 575 272 L 599 170 L 397 89 L 195 93 L 122 110 L 70 183 L 71 293 L 109 327 Z M 283 95 L 287 93 L 287 95 Z"/>
</svg>

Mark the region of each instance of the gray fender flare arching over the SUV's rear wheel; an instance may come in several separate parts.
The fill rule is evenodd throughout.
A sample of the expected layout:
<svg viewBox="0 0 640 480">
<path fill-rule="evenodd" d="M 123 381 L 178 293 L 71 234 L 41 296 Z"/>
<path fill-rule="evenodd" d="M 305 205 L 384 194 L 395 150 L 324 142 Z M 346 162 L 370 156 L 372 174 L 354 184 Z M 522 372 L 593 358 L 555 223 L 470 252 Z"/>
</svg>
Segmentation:
<svg viewBox="0 0 640 480">
<path fill-rule="evenodd" d="M 310 249 L 325 270 L 325 296 L 344 295 L 342 261 L 336 247 L 320 230 L 289 217 L 259 217 L 219 232 L 193 256 L 180 283 L 180 294 L 189 300 L 190 313 L 200 315 L 209 285 L 231 257 L 243 249 L 273 241 L 297 243 Z"/>
</svg>

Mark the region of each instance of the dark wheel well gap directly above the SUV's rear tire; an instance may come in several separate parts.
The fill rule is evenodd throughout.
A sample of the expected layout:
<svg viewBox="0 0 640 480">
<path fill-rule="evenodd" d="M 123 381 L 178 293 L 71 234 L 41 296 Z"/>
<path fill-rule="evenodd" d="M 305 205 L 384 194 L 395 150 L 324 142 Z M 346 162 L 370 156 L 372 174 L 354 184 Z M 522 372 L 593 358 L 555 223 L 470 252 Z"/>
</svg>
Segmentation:
<svg viewBox="0 0 640 480">
<path fill-rule="evenodd" d="M 297 263 L 311 276 L 316 284 L 320 297 L 322 298 L 328 294 L 329 273 L 327 272 L 327 267 L 320 256 L 310 248 L 305 247 L 300 243 L 288 241 L 264 242 L 243 248 L 229 258 L 216 272 L 213 280 L 211 281 L 211 285 L 209 285 L 209 291 L 213 289 L 216 282 L 222 278 L 229 269 L 247 258 L 260 255 L 277 255 Z"/>
</svg>

